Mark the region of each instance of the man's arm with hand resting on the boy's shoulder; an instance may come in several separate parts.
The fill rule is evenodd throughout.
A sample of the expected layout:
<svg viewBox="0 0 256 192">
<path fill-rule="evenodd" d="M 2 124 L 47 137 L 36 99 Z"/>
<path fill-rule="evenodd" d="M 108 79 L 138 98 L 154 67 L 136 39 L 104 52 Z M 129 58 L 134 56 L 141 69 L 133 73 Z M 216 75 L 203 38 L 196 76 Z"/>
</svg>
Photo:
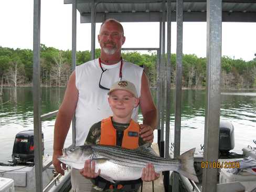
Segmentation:
<svg viewBox="0 0 256 192">
<path fill-rule="evenodd" d="M 157 110 L 152 99 L 149 81 L 144 71 L 141 79 L 140 106 L 143 115 L 143 125 L 140 125 L 141 137 L 143 141 L 153 142 L 153 131 L 157 125 Z"/>
</svg>

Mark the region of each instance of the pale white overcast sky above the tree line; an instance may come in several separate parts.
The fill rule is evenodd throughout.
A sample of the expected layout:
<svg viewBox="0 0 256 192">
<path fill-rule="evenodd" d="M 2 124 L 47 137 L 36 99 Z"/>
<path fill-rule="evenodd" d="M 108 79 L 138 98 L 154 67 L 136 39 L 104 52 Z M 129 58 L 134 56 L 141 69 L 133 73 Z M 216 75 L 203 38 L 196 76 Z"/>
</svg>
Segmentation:
<svg viewBox="0 0 256 192">
<path fill-rule="evenodd" d="M 0 46 L 33 49 L 33 0 L 0 0 Z M 41 0 L 41 44 L 71 49 L 72 5 Z M 159 47 L 159 23 L 122 23 L 124 48 Z M 96 34 L 100 24 L 96 25 Z M 172 23 L 171 51 L 176 52 L 176 23 Z M 206 23 L 184 22 L 183 52 L 206 57 Z M 222 23 L 222 56 L 246 61 L 255 58 L 256 23 Z M 96 42 L 96 48 L 99 48 Z M 80 24 L 77 13 L 77 50 L 91 49 L 91 25 Z"/>
</svg>

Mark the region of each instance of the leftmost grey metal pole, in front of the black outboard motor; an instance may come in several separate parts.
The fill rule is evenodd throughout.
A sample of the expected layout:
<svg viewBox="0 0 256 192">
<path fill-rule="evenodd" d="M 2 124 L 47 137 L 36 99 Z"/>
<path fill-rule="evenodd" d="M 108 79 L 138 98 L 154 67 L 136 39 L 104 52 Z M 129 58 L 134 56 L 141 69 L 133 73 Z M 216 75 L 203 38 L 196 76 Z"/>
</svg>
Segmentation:
<svg viewBox="0 0 256 192">
<path fill-rule="evenodd" d="M 40 16 L 41 1 L 34 0 L 33 31 L 33 104 L 34 104 L 34 161 L 36 191 L 42 191 L 42 128 L 41 128 L 41 89 L 40 89 Z"/>
</svg>

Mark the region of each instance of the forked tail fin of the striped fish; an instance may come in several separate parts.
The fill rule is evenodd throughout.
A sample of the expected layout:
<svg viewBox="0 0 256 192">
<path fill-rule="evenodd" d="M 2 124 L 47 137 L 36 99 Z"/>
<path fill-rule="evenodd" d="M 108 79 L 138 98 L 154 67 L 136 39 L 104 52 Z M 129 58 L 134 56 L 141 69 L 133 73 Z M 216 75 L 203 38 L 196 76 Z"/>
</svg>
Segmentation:
<svg viewBox="0 0 256 192">
<path fill-rule="evenodd" d="M 181 161 L 181 167 L 179 170 L 177 170 L 177 172 L 198 183 L 199 181 L 194 168 L 195 150 L 196 148 L 192 148 L 178 157 L 178 159 Z"/>
</svg>

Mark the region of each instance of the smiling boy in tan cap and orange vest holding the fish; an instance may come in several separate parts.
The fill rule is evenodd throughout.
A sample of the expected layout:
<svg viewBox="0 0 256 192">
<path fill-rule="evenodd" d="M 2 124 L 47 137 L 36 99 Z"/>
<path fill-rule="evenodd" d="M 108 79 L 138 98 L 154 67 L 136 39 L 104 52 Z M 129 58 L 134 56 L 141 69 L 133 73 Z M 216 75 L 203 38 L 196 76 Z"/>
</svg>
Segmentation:
<svg viewBox="0 0 256 192">
<path fill-rule="evenodd" d="M 130 149 L 145 144 L 142 138 L 138 137 L 139 124 L 131 119 L 132 111 L 139 103 L 134 84 L 129 81 L 118 81 L 113 84 L 108 95 L 113 116 L 92 125 L 85 144 L 118 145 Z M 141 185 L 141 179 L 152 181 L 159 177 L 153 165 L 148 164 L 143 168 L 141 179 L 120 182 L 113 186 L 99 176 L 100 170 L 95 173 L 95 162 L 91 165 L 90 160 L 84 163 L 84 169 L 80 173 L 86 178 L 93 178 L 92 182 L 98 186 L 98 189 L 108 191 L 111 191 L 109 190 L 111 188 L 118 188 L 118 191 L 137 191 Z M 92 191 L 97 189 L 94 188 Z"/>
</svg>

